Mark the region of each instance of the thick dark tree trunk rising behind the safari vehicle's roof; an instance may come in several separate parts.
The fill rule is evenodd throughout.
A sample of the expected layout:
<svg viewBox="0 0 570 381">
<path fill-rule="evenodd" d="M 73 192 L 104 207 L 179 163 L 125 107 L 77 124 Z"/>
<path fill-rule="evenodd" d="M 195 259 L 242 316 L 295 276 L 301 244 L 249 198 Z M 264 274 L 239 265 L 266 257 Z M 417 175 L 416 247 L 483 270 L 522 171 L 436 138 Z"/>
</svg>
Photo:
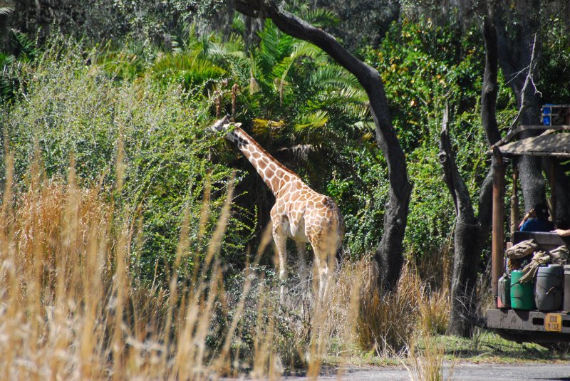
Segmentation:
<svg viewBox="0 0 570 381">
<path fill-rule="evenodd" d="M 492 17 L 497 26 L 499 63 L 514 93 L 517 105 L 522 108 L 519 123 L 538 125 L 540 123 L 540 96 L 535 92 L 534 85 L 527 85 L 524 88 L 524 82 L 529 73 L 533 49 L 535 55 L 538 55 L 540 51 L 540 41 L 537 39 L 535 46 L 534 36 L 539 33 L 541 1 L 517 0 L 515 3 L 515 11 L 492 7 Z M 506 7 L 509 4 L 502 4 L 502 6 Z M 518 22 L 516 24 L 509 22 L 507 30 L 507 24 L 499 14 L 509 13 L 514 14 Z M 521 135 L 530 137 L 537 135 L 537 132 L 524 132 Z M 524 207 L 528 210 L 534 207 L 534 204 L 544 202 L 546 198 L 546 184 L 541 173 L 541 158 L 522 156 L 517 159 L 516 163 L 519 169 Z"/>
</svg>

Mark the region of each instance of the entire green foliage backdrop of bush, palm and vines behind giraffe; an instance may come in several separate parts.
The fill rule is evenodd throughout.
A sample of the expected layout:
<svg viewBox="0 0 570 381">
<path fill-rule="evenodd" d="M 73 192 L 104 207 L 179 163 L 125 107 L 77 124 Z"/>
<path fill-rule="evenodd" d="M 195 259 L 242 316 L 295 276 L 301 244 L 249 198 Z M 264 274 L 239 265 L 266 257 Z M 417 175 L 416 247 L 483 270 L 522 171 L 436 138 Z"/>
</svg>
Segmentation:
<svg viewBox="0 0 570 381">
<path fill-rule="evenodd" d="M 172 264 L 185 210 L 190 234 L 197 235 L 207 182 L 212 184 L 212 230 L 232 168 L 237 169 L 235 218 L 223 256 L 229 266 L 242 268 L 247 246 L 256 244 L 253 238 L 268 222 L 272 195 L 237 150 L 204 133 L 216 113 L 232 113 L 236 85 L 236 120 L 311 187 L 336 199 L 351 257 L 373 252 L 383 234 L 388 179 L 361 86 L 323 51 L 281 33 L 271 21 L 265 21 L 257 40 L 247 39 L 247 20 L 238 15 L 233 32 L 223 35 L 189 24 L 223 8 L 219 1 L 204 4 L 141 3 L 146 11 L 137 13 L 137 6 L 117 1 L 117 17 L 136 17 L 102 45 L 93 36 L 78 43 L 51 35 L 42 43 L 11 31 L 11 48 L 0 55 L 0 123 L 16 157 L 21 189 L 34 158 L 41 157 L 47 177 L 65 179 L 73 156 L 82 184 L 100 184 L 120 213 L 132 219 L 133 234 L 141 238 L 133 247 L 133 264 L 151 279 L 155 268 L 167 271 Z M 302 1 L 288 6 L 318 26 L 338 26 L 331 11 Z M 160 21 L 171 14 L 177 14 L 175 24 Z M 568 86 L 553 85 L 570 78 L 564 60 L 570 40 L 561 33 L 566 28 L 559 19 L 544 26 L 537 83 L 549 102 L 569 96 Z M 168 43 L 160 37 L 166 29 Z M 380 71 L 407 155 L 413 194 L 405 249 L 418 261 L 437 258 L 450 243 L 455 218 L 438 159 L 446 103 L 457 164 L 473 200 L 489 168 L 480 125 L 480 30 L 403 16 L 377 46 L 353 50 Z M 516 113 L 506 82 L 499 74 L 499 126 Z M 119 141 L 125 182 L 122 193 L 115 194 Z M 186 265 L 192 267 L 190 260 Z"/>
</svg>

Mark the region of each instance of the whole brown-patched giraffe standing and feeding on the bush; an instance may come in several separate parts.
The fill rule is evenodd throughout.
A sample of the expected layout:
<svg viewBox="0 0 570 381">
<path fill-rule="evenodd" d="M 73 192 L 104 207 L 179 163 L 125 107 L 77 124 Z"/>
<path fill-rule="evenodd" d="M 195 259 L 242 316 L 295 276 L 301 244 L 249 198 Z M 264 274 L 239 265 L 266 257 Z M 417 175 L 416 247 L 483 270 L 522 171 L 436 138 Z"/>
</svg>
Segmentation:
<svg viewBox="0 0 570 381">
<path fill-rule="evenodd" d="M 326 298 L 328 278 L 334 266 L 335 254 L 344 235 L 344 221 L 341 211 L 331 197 L 318 194 L 290 169 L 269 155 L 258 142 L 242 130 L 241 123 L 229 122 L 225 117 L 212 125 L 211 130 L 226 132 L 226 138 L 237 145 L 252 163 L 275 196 L 271 208 L 272 233 L 279 258 L 279 279 L 281 280 L 281 301 L 284 298 L 284 281 L 287 278 L 286 241 L 296 243 L 299 255 L 301 281 L 307 278 L 305 261 L 306 245 L 314 250 L 315 266 L 318 271 L 318 296 Z"/>
</svg>

